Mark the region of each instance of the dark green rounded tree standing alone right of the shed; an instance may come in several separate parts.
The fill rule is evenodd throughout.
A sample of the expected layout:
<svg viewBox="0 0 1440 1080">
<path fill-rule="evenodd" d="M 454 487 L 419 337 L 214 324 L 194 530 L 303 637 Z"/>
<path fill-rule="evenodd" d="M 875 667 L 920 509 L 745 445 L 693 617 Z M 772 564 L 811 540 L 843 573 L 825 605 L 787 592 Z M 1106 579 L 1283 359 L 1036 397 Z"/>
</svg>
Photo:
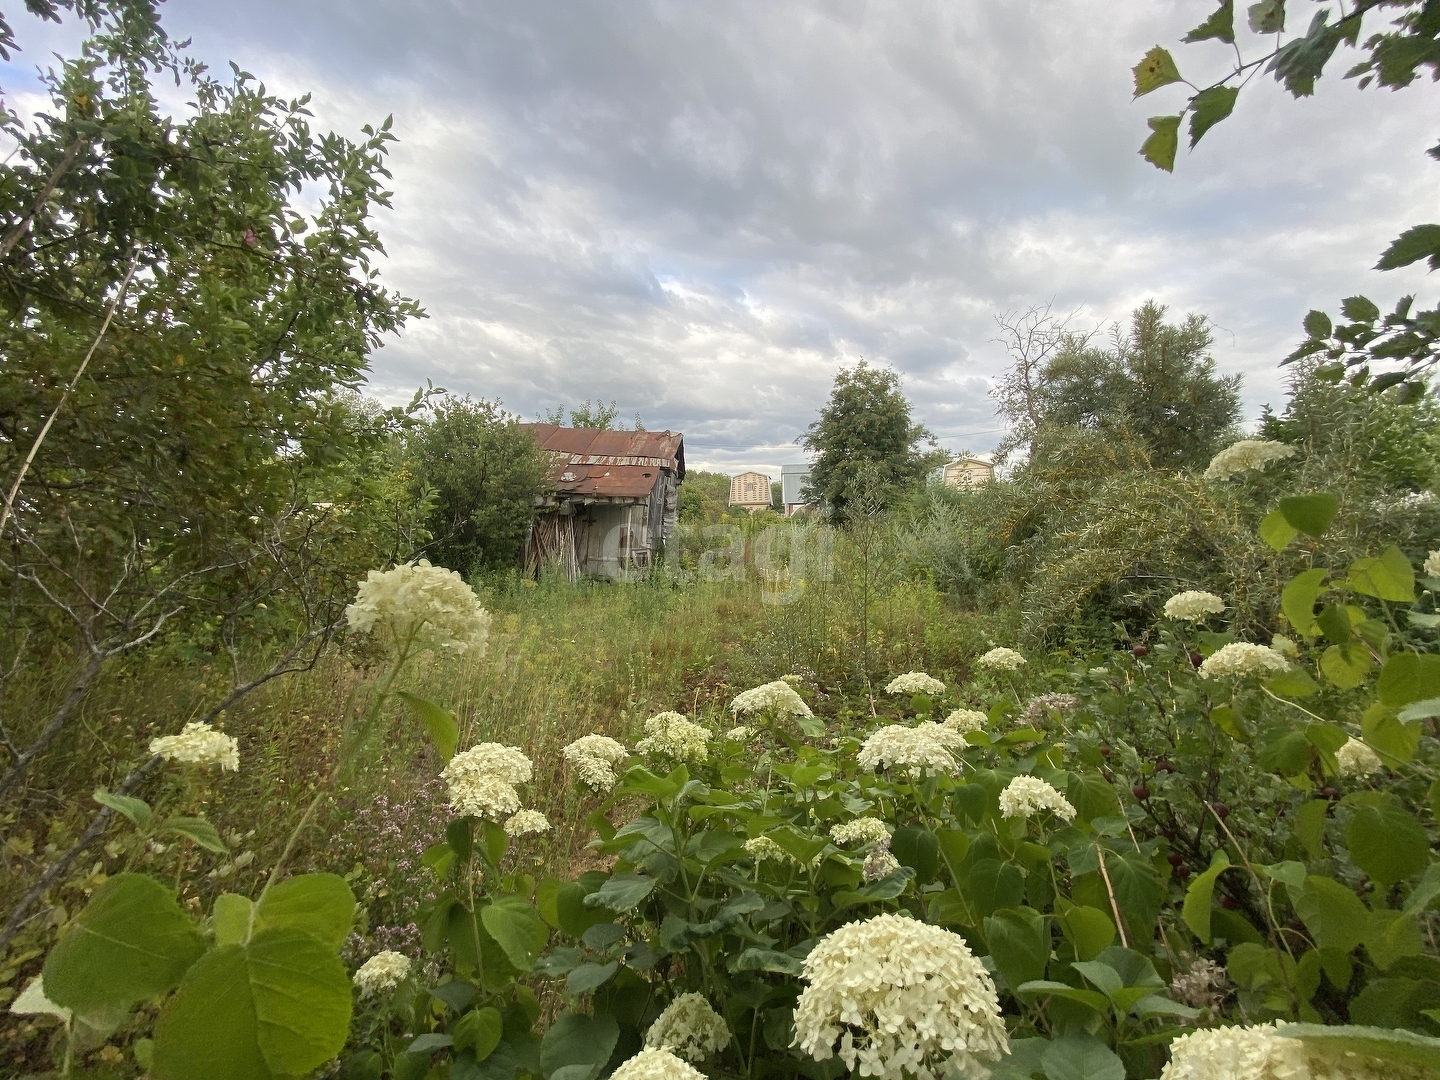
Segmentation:
<svg viewBox="0 0 1440 1080">
<path fill-rule="evenodd" d="M 893 498 L 923 482 L 926 472 L 945 459 L 943 451 L 922 451 L 924 441 L 935 446 L 935 436 L 912 420 L 897 372 L 871 367 L 864 360 L 842 367 L 829 402 L 801 439 L 818 455 L 805 498 L 828 505 L 832 516 L 844 520 L 861 474 L 867 491 L 878 484 Z"/>
</svg>

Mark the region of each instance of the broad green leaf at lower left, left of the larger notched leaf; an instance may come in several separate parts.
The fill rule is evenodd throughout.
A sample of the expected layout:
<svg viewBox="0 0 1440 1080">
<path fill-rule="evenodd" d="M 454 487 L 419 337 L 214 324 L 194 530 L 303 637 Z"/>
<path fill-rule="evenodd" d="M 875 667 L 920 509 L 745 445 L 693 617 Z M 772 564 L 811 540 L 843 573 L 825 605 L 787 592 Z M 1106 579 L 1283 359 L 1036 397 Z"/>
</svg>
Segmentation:
<svg viewBox="0 0 1440 1080">
<path fill-rule="evenodd" d="M 118 874 L 45 958 L 45 994 L 76 1014 L 130 1008 L 180 982 L 203 952 L 204 937 L 168 888 Z"/>
</svg>

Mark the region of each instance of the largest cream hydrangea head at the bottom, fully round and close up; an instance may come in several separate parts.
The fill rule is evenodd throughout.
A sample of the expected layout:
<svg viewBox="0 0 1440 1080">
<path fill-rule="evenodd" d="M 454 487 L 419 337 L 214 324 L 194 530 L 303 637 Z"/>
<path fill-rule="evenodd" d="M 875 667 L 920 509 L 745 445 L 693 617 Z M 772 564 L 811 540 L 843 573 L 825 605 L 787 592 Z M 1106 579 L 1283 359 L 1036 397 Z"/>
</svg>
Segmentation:
<svg viewBox="0 0 1440 1080">
<path fill-rule="evenodd" d="M 984 1076 L 1008 1053 L 995 984 L 958 933 L 900 914 L 847 923 L 805 958 L 795 1043 L 863 1077 Z"/>
</svg>

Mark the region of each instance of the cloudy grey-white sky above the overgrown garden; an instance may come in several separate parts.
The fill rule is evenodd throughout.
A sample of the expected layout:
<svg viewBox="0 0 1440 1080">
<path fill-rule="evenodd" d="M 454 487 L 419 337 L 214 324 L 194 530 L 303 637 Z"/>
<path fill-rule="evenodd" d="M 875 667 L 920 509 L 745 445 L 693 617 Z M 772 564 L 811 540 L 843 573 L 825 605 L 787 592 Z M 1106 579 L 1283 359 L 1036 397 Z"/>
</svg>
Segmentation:
<svg viewBox="0 0 1440 1080">
<path fill-rule="evenodd" d="M 691 468 L 778 474 L 834 373 L 904 376 L 952 449 L 999 436 L 995 315 L 1077 324 L 1146 298 L 1215 324 L 1246 418 L 1312 307 L 1433 285 L 1369 271 L 1433 220 L 1437 91 L 1295 102 L 1270 81 L 1175 176 L 1136 156 L 1129 68 L 1214 0 L 170 0 L 176 37 L 357 134 L 395 115 L 384 276 L 429 318 L 373 357 L 373 392 L 432 379 L 526 418 L 613 399 L 685 432 Z M 1292 22 L 1313 3 L 1292 0 Z M 23 101 L 65 32 L 24 14 L 0 65 Z M 1259 50 L 1259 42 L 1243 42 Z"/>
</svg>

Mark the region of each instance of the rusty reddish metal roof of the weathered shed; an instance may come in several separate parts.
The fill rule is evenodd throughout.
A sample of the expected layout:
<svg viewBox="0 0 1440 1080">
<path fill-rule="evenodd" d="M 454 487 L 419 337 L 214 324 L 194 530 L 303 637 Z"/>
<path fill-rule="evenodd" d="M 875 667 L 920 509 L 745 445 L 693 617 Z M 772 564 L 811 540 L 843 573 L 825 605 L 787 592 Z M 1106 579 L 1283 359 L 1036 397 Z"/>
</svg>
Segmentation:
<svg viewBox="0 0 1440 1080">
<path fill-rule="evenodd" d="M 559 495 L 648 498 L 661 469 L 685 478 L 685 436 L 680 432 L 520 426 L 550 451 L 550 480 Z"/>
</svg>

